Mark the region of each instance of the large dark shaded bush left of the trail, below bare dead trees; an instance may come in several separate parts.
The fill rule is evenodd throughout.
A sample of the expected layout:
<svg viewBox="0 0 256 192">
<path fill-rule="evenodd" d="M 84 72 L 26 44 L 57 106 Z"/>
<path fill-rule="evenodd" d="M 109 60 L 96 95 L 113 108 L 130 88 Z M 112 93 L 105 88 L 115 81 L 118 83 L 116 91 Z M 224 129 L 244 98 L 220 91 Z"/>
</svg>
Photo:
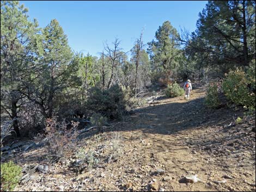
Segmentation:
<svg viewBox="0 0 256 192">
<path fill-rule="evenodd" d="M 91 114 L 100 113 L 108 119 L 120 119 L 125 113 L 125 105 L 124 93 L 118 85 L 108 90 L 90 89 L 86 104 Z"/>
</svg>

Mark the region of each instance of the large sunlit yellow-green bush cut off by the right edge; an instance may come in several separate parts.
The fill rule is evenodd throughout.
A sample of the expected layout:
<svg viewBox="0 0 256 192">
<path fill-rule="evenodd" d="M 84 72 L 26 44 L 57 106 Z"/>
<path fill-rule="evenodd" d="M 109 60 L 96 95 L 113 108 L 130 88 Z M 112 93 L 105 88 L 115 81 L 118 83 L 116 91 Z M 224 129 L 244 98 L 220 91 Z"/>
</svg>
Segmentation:
<svg viewBox="0 0 256 192">
<path fill-rule="evenodd" d="M 255 67 L 254 67 L 255 68 Z M 255 109 L 255 69 L 230 71 L 222 83 L 227 98 L 237 105 Z"/>
</svg>

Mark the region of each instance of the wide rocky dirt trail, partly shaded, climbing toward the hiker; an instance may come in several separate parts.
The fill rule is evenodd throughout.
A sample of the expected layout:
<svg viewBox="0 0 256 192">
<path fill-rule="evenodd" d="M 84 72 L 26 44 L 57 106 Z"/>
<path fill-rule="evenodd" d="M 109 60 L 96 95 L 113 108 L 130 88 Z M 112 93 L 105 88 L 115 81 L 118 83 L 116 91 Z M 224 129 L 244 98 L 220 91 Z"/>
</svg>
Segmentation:
<svg viewBox="0 0 256 192">
<path fill-rule="evenodd" d="M 15 190 L 255 191 L 254 117 L 236 125 L 242 110 L 207 109 L 204 97 L 198 83 L 188 101 L 162 98 L 136 109 L 101 134 L 81 135 L 77 150 L 58 163 L 47 163 L 46 147 L 22 152 Z M 94 163 L 77 174 L 81 148 L 94 152 Z"/>
</svg>

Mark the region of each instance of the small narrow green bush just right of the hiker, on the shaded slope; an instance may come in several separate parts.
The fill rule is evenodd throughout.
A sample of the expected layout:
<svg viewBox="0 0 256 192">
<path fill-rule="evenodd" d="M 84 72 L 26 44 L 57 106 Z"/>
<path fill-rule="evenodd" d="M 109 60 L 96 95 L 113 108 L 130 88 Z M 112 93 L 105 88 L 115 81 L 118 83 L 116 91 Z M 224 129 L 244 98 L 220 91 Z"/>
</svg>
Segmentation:
<svg viewBox="0 0 256 192">
<path fill-rule="evenodd" d="M 206 92 L 205 105 L 210 108 L 217 108 L 220 105 L 218 98 L 218 85 L 217 83 L 210 83 Z"/>
</svg>

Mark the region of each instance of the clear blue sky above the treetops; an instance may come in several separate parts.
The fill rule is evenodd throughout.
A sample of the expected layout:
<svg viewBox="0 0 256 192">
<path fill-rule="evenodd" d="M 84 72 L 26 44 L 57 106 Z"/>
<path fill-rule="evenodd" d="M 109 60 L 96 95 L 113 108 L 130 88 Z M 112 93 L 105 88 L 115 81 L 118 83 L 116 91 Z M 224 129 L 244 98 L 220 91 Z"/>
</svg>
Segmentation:
<svg viewBox="0 0 256 192">
<path fill-rule="evenodd" d="M 20 1 L 29 9 L 31 20 L 40 27 L 56 18 L 69 45 L 76 52 L 99 56 L 103 42 L 115 37 L 120 47 L 129 51 L 144 27 L 143 40 L 154 39 L 164 21 L 170 21 L 177 30 L 196 29 L 198 13 L 208 1 Z"/>
</svg>

